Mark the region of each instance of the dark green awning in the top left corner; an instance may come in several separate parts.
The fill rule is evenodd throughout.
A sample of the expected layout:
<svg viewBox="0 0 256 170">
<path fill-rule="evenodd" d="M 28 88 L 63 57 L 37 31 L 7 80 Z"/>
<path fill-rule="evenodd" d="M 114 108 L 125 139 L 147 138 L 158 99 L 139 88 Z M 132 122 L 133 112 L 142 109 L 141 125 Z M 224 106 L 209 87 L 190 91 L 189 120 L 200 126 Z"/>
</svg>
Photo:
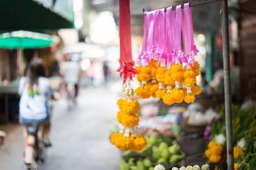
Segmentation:
<svg viewBox="0 0 256 170">
<path fill-rule="evenodd" d="M 49 0 L 46 2 L 49 4 Z M 72 0 L 57 0 L 53 8 L 47 4 L 34 0 L 0 1 L 0 31 L 74 28 Z"/>
</svg>

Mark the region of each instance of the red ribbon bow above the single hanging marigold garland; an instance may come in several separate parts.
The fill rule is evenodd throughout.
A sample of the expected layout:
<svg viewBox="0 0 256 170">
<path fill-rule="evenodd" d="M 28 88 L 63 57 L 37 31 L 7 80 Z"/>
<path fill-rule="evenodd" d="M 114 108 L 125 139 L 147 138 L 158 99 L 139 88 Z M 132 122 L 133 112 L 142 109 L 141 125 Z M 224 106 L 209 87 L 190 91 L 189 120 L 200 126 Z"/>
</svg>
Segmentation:
<svg viewBox="0 0 256 170">
<path fill-rule="evenodd" d="M 120 67 L 117 69 L 117 72 L 120 72 L 120 77 L 124 75 L 124 81 L 129 78 L 132 80 L 132 77 L 134 77 L 136 74 L 139 74 L 136 69 L 134 69 L 134 61 L 132 62 L 124 62 L 124 60 L 119 60 Z"/>
</svg>

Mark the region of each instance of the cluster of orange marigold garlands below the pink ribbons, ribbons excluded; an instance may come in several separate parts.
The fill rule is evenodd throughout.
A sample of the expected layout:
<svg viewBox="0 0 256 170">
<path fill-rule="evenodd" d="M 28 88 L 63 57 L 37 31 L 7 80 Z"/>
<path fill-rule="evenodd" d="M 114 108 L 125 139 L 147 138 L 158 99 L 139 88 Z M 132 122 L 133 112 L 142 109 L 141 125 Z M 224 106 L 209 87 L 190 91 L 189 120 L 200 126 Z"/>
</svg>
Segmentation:
<svg viewBox="0 0 256 170">
<path fill-rule="evenodd" d="M 194 52 L 191 52 L 191 55 L 194 58 Z M 201 87 L 196 84 L 196 77 L 200 74 L 200 64 L 197 61 L 183 67 L 184 54 L 173 55 L 173 64 L 166 64 L 168 57 L 161 58 L 161 62 L 154 60 L 155 57 L 150 55 L 146 58 L 146 64 L 135 67 L 139 72 L 137 81 L 140 85 L 135 94 L 140 98 L 162 98 L 167 105 L 195 101 L 195 95 L 201 93 Z M 149 64 L 147 60 L 150 60 Z"/>
</svg>

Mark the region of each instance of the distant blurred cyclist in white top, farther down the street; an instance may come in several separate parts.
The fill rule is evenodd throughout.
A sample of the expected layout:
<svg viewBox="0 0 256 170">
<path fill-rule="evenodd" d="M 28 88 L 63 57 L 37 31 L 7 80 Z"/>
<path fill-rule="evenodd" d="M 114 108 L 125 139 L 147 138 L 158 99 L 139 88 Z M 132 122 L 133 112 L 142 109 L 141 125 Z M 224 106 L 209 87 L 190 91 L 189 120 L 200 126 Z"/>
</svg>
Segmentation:
<svg viewBox="0 0 256 170">
<path fill-rule="evenodd" d="M 75 86 L 75 98 L 76 98 L 78 96 L 78 88 L 79 88 L 78 85 L 79 85 L 79 79 L 80 79 L 80 73 L 81 73 L 79 63 L 76 61 L 68 60 L 63 64 L 62 73 L 63 73 L 63 81 L 65 83 L 66 90 L 68 88 L 68 84 L 72 84 L 73 86 Z"/>
</svg>

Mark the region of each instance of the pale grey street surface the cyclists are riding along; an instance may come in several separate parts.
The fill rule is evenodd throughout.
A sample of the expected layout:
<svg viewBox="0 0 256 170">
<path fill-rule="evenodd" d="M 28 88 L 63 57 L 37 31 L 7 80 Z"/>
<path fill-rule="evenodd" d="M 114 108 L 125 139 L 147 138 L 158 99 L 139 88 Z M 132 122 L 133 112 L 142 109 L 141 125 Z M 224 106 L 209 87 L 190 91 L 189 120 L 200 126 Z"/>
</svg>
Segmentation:
<svg viewBox="0 0 256 170">
<path fill-rule="evenodd" d="M 117 114 L 118 93 L 110 89 L 81 89 L 78 106 L 68 111 L 65 98 L 53 108 L 46 162 L 41 170 L 114 170 L 121 161 L 119 150 L 110 143 L 110 130 Z M 0 125 L 6 131 L 6 143 L 0 148 L 0 169 L 23 168 L 23 136 L 21 125 Z"/>
</svg>

